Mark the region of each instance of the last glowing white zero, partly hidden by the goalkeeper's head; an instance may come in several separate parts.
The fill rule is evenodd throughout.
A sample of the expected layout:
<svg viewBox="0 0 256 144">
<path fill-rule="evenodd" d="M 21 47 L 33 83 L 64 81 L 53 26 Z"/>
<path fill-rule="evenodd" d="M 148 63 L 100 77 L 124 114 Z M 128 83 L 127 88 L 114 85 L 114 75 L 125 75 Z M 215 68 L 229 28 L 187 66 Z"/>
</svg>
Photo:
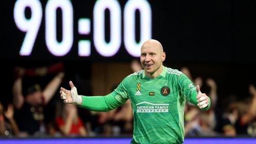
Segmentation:
<svg viewBox="0 0 256 144">
<path fill-rule="evenodd" d="M 136 42 L 135 31 L 135 11 L 140 12 L 140 42 Z M 127 52 L 134 56 L 140 57 L 140 47 L 142 43 L 151 39 L 151 7 L 144 0 L 130 0 L 124 7 L 124 45 Z"/>
</svg>

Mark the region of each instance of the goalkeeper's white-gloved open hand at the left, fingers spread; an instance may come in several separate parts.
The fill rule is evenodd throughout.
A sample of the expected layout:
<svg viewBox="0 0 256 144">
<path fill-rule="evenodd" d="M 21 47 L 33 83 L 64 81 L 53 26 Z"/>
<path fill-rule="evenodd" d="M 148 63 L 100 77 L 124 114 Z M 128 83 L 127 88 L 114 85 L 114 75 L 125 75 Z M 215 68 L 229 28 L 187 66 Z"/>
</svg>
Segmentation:
<svg viewBox="0 0 256 144">
<path fill-rule="evenodd" d="M 71 87 L 71 90 L 67 90 L 63 87 L 60 88 L 60 99 L 63 100 L 64 103 L 68 104 L 76 104 L 76 105 L 81 105 L 82 104 L 82 95 L 77 94 L 77 89 L 74 86 L 73 82 L 70 81 L 69 85 Z"/>
</svg>

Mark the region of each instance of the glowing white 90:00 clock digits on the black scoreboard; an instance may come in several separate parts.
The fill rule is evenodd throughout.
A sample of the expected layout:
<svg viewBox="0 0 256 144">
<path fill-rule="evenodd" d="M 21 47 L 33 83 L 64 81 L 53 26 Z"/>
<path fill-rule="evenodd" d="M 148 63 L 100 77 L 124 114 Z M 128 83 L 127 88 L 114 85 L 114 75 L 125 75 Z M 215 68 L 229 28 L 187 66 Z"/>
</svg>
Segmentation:
<svg viewBox="0 0 256 144">
<path fill-rule="evenodd" d="M 84 5 L 87 5 L 84 3 Z M 18 30 L 25 33 L 20 43 L 20 56 L 30 56 L 44 18 L 46 49 L 50 55 L 63 57 L 72 49 L 77 49 L 77 57 L 90 57 L 95 47 L 102 57 L 116 55 L 124 44 L 124 49 L 133 57 L 140 56 L 142 42 L 151 38 L 151 6 L 145 0 L 130 0 L 121 8 L 118 1 L 100 0 L 91 5 L 90 17 L 74 17 L 75 9 L 69 0 L 47 1 L 45 7 L 38 0 L 18 0 L 14 4 L 13 17 Z M 26 9 L 30 11 L 26 17 Z M 140 15 L 140 36 L 136 40 L 136 12 Z M 109 19 L 106 20 L 106 13 Z M 44 16 L 43 16 L 44 15 Z M 61 22 L 57 23 L 57 19 Z M 109 22 L 106 28 L 105 22 Z M 77 23 L 74 29 L 74 23 Z M 123 25 L 122 25 L 123 24 Z M 61 29 L 60 32 L 57 29 Z M 123 32 L 122 32 L 123 30 Z M 60 35 L 59 39 L 57 38 Z M 91 35 L 90 39 L 74 39 L 74 35 Z M 109 40 L 105 36 L 108 35 Z M 76 44 L 75 44 L 76 43 Z"/>
</svg>

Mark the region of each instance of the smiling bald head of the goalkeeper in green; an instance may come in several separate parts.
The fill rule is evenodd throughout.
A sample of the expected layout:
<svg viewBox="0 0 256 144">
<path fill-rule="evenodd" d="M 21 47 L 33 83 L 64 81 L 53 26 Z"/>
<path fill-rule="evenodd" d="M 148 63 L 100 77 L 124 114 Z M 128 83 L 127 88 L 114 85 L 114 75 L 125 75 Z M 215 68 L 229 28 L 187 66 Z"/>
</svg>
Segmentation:
<svg viewBox="0 0 256 144">
<path fill-rule="evenodd" d="M 147 74 L 154 75 L 158 72 L 164 59 L 165 53 L 159 43 L 153 41 L 146 42 L 142 45 L 140 62 Z"/>
</svg>

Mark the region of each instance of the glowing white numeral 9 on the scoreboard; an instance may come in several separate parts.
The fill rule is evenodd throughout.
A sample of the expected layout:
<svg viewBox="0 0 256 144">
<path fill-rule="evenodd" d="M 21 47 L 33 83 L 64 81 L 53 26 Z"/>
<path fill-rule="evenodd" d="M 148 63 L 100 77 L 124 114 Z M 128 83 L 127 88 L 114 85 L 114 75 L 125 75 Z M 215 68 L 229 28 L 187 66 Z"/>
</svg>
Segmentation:
<svg viewBox="0 0 256 144">
<path fill-rule="evenodd" d="M 31 17 L 25 16 L 25 9 L 30 8 Z M 14 21 L 19 30 L 26 32 L 19 55 L 29 56 L 33 50 L 35 39 L 41 25 L 42 8 L 38 0 L 18 0 L 14 5 Z"/>
</svg>

